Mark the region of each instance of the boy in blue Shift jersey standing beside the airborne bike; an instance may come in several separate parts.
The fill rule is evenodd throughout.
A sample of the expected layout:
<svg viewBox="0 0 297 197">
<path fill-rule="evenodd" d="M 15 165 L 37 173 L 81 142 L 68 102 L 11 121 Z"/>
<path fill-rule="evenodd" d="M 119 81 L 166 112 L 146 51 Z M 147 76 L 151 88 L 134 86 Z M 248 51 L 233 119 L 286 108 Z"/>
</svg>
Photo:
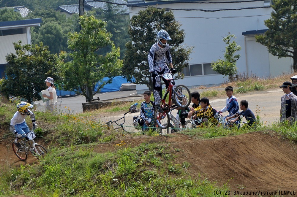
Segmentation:
<svg viewBox="0 0 297 197">
<path fill-rule="evenodd" d="M 145 91 L 143 93 L 144 101 L 140 105 L 140 117 L 144 121 L 142 131 L 147 130 L 149 127 L 155 127 L 154 111 L 155 104 L 151 101 L 151 92 Z"/>
</svg>

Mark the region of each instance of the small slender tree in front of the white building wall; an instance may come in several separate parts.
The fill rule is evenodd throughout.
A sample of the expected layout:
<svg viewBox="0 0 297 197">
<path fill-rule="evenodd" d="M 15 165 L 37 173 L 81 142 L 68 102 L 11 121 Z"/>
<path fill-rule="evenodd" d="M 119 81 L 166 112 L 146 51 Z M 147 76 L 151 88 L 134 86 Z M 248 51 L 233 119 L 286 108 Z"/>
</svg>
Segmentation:
<svg viewBox="0 0 297 197">
<path fill-rule="evenodd" d="M 231 82 L 234 81 L 234 74 L 237 73 L 236 61 L 240 58 L 239 54 L 234 54 L 241 50 L 241 47 L 236 44 L 235 38 L 234 34 L 230 34 L 230 32 L 223 38 L 227 45 L 224 60 L 218 59 L 216 62 L 211 63 L 211 68 L 214 71 L 225 75 L 224 77 L 228 76 Z"/>
</svg>

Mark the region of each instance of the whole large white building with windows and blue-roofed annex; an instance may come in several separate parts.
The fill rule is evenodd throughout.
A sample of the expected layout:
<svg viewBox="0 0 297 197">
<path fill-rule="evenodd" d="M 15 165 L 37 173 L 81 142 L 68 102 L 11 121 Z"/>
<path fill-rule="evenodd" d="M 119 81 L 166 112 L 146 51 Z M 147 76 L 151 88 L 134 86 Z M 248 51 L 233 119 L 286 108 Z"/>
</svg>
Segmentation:
<svg viewBox="0 0 297 197">
<path fill-rule="evenodd" d="M 184 68 L 183 80 L 176 84 L 188 87 L 221 84 L 227 79 L 211 68 L 211 63 L 224 58 L 226 47 L 223 37 L 228 33 L 236 36 L 241 57 L 236 62 L 238 72 L 257 77 L 275 77 L 292 72 L 291 58 L 278 58 L 267 48 L 255 42 L 255 35 L 267 31 L 264 21 L 271 17 L 271 0 L 263 1 L 225 1 L 225 0 L 179 0 L 179 1 L 141 1 L 128 0 L 130 18 L 146 7 L 172 10 L 175 20 L 184 30 L 184 43 L 193 46 L 189 66 Z M 170 45 L 170 41 L 168 41 Z M 173 65 L 174 65 L 174 57 Z M 136 85 L 137 93 L 147 87 Z M 141 92 L 142 91 L 142 92 Z"/>
</svg>

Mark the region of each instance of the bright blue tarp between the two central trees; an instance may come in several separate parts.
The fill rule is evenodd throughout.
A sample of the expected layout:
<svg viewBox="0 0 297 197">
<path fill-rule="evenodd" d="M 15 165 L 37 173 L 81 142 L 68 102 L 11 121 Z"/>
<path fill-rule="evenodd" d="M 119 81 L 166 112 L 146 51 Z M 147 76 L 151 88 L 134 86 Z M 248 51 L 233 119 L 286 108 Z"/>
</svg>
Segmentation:
<svg viewBox="0 0 297 197">
<path fill-rule="evenodd" d="M 102 82 L 107 81 L 109 78 L 104 77 L 102 81 L 99 81 L 96 83 L 94 90 L 97 91 L 97 88 Z M 100 92 L 114 92 L 119 91 L 121 88 L 121 85 L 123 83 L 129 83 L 127 79 L 124 79 L 122 76 L 116 76 L 112 79 L 111 83 L 105 84 L 103 88 L 101 88 Z"/>
</svg>

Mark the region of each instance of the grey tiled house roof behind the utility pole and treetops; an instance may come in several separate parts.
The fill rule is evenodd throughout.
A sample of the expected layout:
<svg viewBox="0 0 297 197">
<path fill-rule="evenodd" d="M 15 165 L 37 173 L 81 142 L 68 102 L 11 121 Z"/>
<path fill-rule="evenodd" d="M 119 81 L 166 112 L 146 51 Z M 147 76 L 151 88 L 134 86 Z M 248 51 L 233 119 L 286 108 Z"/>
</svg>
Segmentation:
<svg viewBox="0 0 297 197">
<path fill-rule="evenodd" d="M 122 15 L 129 15 L 129 8 L 127 7 L 127 2 L 123 0 L 114 0 L 113 3 L 118 4 L 119 6 L 116 8 L 118 12 Z M 92 8 L 101 8 L 107 9 L 106 2 L 101 1 L 93 1 L 93 0 L 85 0 L 84 9 L 85 12 L 92 10 Z M 72 14 L 78 14 L 78 4 L 72 5 L 61 5 L 58 10 L 62 13 L 65 13 L 66 17 L 71 16 Z"/>
</svg>

